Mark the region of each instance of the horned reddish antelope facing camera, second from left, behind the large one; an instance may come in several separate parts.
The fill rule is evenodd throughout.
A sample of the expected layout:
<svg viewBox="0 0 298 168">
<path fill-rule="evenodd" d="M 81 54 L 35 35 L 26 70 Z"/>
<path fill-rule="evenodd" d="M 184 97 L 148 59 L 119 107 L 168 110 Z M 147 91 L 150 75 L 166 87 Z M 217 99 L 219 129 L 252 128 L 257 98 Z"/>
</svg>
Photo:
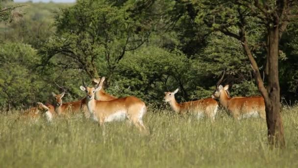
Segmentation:
<svg viewBox="0 0 298 168">
<path fill-rule="evenodd" d="M 52 96 L 55 98 L 55 112 L 57 112 L 59 115 L 68 115 L 69 112 L 77 113 L 82 110 L 85 116 L 87 118 L 89 117 L 89 112 L 86 107 L 86 98 L 75 102 L 62 103 L 62 98 L 64 95 L 65 91 L 63 91 L 61 94 L 55 94 L 54 92 L 52 92 Z"/>
</svg>

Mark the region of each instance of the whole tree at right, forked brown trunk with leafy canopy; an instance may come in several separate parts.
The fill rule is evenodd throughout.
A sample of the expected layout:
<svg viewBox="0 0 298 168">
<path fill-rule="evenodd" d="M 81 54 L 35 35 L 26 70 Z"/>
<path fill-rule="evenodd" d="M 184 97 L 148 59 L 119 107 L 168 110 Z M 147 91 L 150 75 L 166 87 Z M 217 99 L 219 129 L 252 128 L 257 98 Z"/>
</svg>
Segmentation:
<svg viewBox="0 0 298 168">
<path fill-rule="evenodd" d="M 265 100 L 268 140 L 273 146 L 285 146 L 283 125 L 280 116 L 280 88 L 278 80 L 279 39 L 287 25 L 297 15 L 297 0 L 193 0 L 198 9 L 197 22 L 214 31 L 239 40 L 251 63 L 259 91 Z M 251 45 L 250 24 L 264 28 L 263 40 Z M 253 48 L 265 47 L 267 52 L 267 77 L 265 87 L 257 65 Z"/>
</svg>

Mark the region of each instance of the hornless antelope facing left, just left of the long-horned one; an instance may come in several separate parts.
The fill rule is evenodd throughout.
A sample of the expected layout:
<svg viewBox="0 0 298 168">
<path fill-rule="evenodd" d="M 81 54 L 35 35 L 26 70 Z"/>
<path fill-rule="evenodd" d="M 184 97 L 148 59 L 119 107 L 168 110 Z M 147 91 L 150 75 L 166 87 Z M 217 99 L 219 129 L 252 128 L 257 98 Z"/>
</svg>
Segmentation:
<svg viewBox="0 0 298 168">
<path fill-rule="evenodd" d="M 218 109 L 218 103 L 212 98 L 200 99 L 197 101 L 184 102 L 178 104 L 175 100 L 175 94 L 178 92 L 178 88 L 174 92 L 165 92 L 164 101 L 169 102 L 172 109 L 178 114 L 184 114 L 191 112 L 202 118 L 204 115 L 208 116 L 212 121 L 215 120 L 215 115 Z"/>
</svg>

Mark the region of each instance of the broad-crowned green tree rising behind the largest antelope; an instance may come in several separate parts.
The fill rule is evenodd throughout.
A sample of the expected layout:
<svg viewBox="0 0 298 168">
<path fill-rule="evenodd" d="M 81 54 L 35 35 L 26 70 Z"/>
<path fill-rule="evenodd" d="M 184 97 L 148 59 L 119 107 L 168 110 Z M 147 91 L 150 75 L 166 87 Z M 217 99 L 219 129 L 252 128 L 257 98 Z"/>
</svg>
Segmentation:
<svg viewBox="0 0 298 168">
<path fill-rule="evenodd" d="M 56 34 L 40 50 L 44 62 L 56 56 L 53 63 L 61 68 L 81 69 L 91 78 L 100 70 L 110 78 L 125 53 L 149 38 L 148 29 L 130 14 L 105 0 L 78 0 L 61 9 L 55 17 Z"/>
</svg>

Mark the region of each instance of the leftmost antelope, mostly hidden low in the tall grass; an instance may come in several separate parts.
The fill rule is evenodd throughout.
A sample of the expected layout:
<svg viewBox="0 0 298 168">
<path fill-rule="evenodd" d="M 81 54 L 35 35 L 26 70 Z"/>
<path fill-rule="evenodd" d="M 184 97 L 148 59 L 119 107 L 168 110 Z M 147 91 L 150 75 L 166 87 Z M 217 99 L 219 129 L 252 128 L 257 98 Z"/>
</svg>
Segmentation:
<svg viewBox="0 0 298 168">
<path fill-rule="evenodd" d="M 53 118 L 53 115 L 55 115 L 54 107 L 50 104 L 44 105 L 40 102 L 37 102 L 36 104 L 36 107 L 26 110 L 16 120 L 18 120 L 20 117 L 25 117 L 37 121 L 40 118 L 40 115 L 45 113 L 47 121 L 50 122 Z"/>
</svg>

